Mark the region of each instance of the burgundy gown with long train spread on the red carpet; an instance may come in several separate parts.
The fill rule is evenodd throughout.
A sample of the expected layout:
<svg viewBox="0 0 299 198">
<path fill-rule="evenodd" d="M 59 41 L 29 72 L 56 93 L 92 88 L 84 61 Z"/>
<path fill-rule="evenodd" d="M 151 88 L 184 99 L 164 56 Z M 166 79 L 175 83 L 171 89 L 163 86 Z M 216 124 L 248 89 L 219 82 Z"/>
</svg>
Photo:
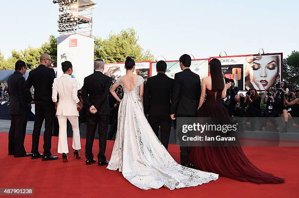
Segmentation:
<svg viewBox="0 0 299 198">
<path fill-rule="evenodd" d="M 229 117 L 222 104 L 221 92 L 207 90 L 206 101 L 197 112 L 197 117 Z M 240 146 L 198 146 L 190 147 L 188 161 L 195 169 L 213 172 L 219 176 L 253 183 L 284 183 L 284 179 L 275 177 L 258 169 L 245 156 Z"/>
</svg>

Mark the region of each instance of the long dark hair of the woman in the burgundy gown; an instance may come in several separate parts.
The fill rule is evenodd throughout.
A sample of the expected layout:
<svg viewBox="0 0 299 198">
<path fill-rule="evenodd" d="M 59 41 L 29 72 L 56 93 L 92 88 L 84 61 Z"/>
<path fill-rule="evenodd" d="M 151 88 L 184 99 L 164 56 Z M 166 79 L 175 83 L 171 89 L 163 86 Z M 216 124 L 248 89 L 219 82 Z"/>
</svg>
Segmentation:
<svg viewBox="0 0 299 198">
<path fill-rule="evenodd" d="M 222 91 L 224 89 L 224 81 L 221 72 L 221 62 L 217 58 L 213 58 L 209 65 L 212 78 L 212 90 Z"/>
</svg>

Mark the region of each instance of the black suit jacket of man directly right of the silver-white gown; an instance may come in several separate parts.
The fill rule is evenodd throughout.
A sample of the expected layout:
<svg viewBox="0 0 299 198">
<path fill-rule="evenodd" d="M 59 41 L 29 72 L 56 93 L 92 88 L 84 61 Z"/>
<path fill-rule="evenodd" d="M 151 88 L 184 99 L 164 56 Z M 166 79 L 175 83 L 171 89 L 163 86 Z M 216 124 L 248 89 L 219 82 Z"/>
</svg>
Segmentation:
<svg viewBox="0 0 299 198">
<path fill-rule="evenodd" d="M 144 111 L 149 116 L 170 116 L 173 79 L 164 73 L 148 78 L 144 87 Z"/>
</svg>

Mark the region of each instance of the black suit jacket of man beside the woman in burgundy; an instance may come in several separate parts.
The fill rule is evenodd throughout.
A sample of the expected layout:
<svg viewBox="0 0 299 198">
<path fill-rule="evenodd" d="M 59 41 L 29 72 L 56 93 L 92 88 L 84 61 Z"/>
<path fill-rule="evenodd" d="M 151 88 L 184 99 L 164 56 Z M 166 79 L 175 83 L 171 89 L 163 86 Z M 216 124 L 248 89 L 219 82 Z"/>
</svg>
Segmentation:
<svg viewBox="0 0 299 198">
<path fill-rule="evenodd" d="M 195 115 L 201 93 L 200 77 L 190 69 L 174 75 L 171 114 Z"/>
</svg>

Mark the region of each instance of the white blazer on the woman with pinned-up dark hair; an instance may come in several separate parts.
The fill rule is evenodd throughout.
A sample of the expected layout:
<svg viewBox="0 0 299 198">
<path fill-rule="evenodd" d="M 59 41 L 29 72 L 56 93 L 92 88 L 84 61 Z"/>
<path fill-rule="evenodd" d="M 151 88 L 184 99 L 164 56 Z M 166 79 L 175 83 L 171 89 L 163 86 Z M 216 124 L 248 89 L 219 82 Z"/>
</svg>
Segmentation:
<svg viewBox="0 0 299 198">
<path fill-rule="evenodd" d="M 79 116 L 77 103 L 80 100 L 77 96 L 77 80 L 68 74 L 55 78 L 52 87 L 53 102 L 57 102 L 57 93 L 59 101 L 56 115 Z"/>
</svg>

